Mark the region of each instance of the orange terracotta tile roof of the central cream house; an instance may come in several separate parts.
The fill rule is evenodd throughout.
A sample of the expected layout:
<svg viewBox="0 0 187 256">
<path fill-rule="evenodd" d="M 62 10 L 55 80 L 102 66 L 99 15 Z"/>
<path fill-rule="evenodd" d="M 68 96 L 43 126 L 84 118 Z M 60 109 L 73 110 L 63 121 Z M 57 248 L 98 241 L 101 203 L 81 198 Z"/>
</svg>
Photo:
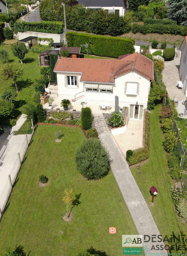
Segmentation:
<svg viewBox="0 0 187 256">
<path fill-rule="evenodd" d="M 55 72 L 82 73 L 81 81 L 100 83 L 114 83 L 115 76 L 132 70 L 154 80 L 152 60 L 139 53 L 122 60 L 60 58 L 54 67 Z"/>
</svg>

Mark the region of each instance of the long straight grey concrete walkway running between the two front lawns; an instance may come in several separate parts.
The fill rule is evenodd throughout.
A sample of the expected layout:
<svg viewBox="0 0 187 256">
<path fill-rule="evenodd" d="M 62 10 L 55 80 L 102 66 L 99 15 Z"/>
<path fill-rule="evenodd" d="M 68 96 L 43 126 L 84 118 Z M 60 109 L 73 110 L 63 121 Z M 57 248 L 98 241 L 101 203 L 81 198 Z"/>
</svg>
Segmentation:
<svg viewBox="0 0 187 256">
<path fill-rule="evenodd" d="M 129 169 L 127 162 L 121 154 L 113 136 L 111 133 L 101 134 L 100 139 L 104 146 L 110 153 L 110 165 L 113 175 L 121 190 L 121 194 L 127 204 L 129 212 L 134 220 L 139 235 L 160 235 L 160 232 L 156 226 L 156 223 L 152 217 L 152 214 L 140 192 L 136 181 L 134 180 L 132 173 Z M 149 190 L 149 188 L 147 188 Z M 126 234 L 124 234 L 126 235 Z M 136 234 L 134 234 L 136 235 Z M 158 253 L 158 255 L 167 256 L 167 251 L 154 251 L 151 250 L 152 245 L 156 246 L 158 243 L 144 243 L 143 246 L 148 246 L 149 253 Z M 164 245 L 159 243 L 159 245 Z M 162 254 L 159 254 L 162 253 Z M 145 254 L 146 255 L 146 254 Z M 152 254 L 153 255 L 153 254 Z"/>
</svg>

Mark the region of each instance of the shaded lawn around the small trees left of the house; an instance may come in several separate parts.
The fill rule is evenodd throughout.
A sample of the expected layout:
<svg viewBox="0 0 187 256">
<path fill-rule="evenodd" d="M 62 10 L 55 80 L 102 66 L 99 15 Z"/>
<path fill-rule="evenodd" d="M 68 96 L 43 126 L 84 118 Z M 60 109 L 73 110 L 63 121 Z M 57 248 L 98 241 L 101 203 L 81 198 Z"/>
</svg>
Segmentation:
<svg viewBox="0 0 187 256">
<path fill-rule="evenodd" d="M 48 49 L 49 46 L 43 45 L 43 49 Z M 0 49 L 5 49 L 8 51 L 11 62 L 20 63 L 20 60 L 15 57 L 12 53 L 11 46 L 1 46 Z M 38 66 L 38 53 L 32 52 L 32 50 L 26 54 L 23 64 L 20 66 L 24 69 L 23 77 L 18 79 L 19 93 L 16 98 L 16 117 L 24 113 L 25 105 L 33 101 L 34 88 L 32 86 L 35 78 L 39 78 L 41 67 Z M 0 68 L 2 67 L 3 62 L 0 60 Z M 4 90 L 11 90 L 15 88 L 13 80 L 3 80 L 0 76 L 1 86 L 0 86 L 0 95 Z"/>
</svg>

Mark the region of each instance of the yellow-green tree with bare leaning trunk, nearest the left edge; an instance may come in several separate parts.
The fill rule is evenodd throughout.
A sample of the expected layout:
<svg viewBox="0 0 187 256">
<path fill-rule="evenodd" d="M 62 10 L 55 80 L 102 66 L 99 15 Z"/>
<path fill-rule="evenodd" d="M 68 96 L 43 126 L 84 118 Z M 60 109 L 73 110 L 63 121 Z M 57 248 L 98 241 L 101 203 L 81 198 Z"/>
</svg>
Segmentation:
<svg viewBox="0 0 187 256">
<path fill-rule="evenodd" d="M 16 63 L 6 63 L 3 65 L 0 73 L 6 80 L 13 79 L 16 92 L 19 92 L 17 79 L 23 75 L 23 68 Z"/>
</svg>

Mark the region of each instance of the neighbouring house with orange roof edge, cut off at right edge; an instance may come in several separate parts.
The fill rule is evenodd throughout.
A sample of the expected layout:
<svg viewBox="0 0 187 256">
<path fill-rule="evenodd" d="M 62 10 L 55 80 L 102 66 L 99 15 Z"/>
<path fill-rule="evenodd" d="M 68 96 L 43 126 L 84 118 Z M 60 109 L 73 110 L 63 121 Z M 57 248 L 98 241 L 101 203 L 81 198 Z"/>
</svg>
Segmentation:
<svg viewBox="0 0 187 256">
<path fill-rule="evenodd" d="M 183 43 L 179 47 L 179 50 L 182 50 L 179 76 L 183 82 L 185 96 L 187 96 L 187 36 L 185 36 Z"/>
</svg>

